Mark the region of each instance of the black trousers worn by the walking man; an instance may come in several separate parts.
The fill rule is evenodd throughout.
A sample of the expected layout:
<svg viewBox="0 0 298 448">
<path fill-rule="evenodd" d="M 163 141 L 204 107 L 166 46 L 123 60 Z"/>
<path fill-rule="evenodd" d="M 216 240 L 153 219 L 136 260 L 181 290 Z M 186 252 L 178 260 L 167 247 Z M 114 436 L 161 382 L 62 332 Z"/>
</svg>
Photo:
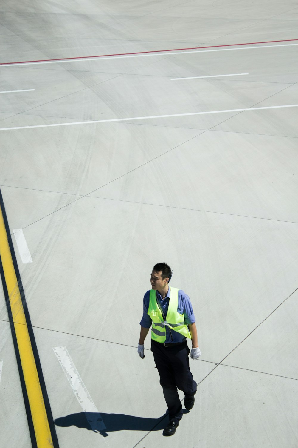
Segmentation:
<svg viewBox="0 0 298 448">
<path fill-rule="evenodd" d="M 186 341 L 180 345 L 165 347 L 164 344 L 151 340 L 151 352 L 159 373 L 159 383 L 163 388 L 170 421 L 177 423 L 183 415 L 177 388 L 183 391 L 185 396 L 197 392 L 197 383 L 189 370 L 190 350 Z"/>
</svg>

